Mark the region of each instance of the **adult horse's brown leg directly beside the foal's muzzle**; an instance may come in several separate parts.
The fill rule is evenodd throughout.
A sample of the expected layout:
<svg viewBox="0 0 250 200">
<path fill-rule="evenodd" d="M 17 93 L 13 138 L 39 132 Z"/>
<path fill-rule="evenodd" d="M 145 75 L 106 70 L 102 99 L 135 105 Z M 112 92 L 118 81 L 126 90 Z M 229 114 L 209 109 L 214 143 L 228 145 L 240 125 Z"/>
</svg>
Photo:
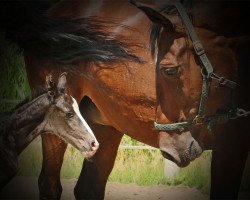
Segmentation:
<svg viewBox="0 0 250 200">
<path fill-rule="evenodd" d="M 113 169 L 123 134 L 113 127 L 92 125 L 100 147 L 91 160 L 84 159 L 83 168 L 74 189 L 76 199 L 104 199 L 108 176 Z"/>
</svg>

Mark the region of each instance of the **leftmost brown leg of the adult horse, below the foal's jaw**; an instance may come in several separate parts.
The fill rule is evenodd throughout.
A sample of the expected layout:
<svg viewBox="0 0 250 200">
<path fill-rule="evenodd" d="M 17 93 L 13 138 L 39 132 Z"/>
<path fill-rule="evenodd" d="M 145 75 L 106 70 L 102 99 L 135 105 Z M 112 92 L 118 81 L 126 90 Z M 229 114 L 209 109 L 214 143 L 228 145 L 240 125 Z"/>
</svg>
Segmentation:
<svg viewBox="0 0 250 200">
<path fill-rule="evenodd" d="M 56 135 L 42 135 L 43 164 L 38 179 L 40 199 L 60 199 L 62 186 L 60 182 L 60 171 L 63 156 L 67 148 Z"/>
</svg>

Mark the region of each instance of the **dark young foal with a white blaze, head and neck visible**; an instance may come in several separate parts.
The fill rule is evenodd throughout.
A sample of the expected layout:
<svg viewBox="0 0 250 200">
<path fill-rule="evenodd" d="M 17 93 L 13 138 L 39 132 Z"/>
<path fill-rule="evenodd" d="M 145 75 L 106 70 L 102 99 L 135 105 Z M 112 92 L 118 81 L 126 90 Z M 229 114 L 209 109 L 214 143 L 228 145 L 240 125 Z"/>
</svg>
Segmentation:
<svg viewBox="0 0 250 200">
<path fill-rule="evenodd" d="M 1 115 L 0 189 L 17 174 L 18 156 L 39 135 L 54 134 L 86 158 L 97 151 L 99 144 L 65 87 L 66 73 L 60 75 L 57 86 L 48 75 L 45 89 Z"/>
</svg>

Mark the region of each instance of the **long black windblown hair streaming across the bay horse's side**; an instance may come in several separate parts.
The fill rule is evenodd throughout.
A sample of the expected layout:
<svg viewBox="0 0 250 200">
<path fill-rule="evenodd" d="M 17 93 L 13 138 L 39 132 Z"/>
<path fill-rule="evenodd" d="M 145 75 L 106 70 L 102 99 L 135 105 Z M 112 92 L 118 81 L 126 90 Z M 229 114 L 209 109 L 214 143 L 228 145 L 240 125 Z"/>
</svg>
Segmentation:
<svg viewBox="0 0 250 200">
<path fill-rule="evenodd" d="M 137 44 L 104 31 L 110 30 L 111 22 L 94 17 L 76 20 L 42 17 L 37 21 L 32 26 L 23 27 L 16 41 L 21 48 L 34 52 L 39 58 L 57 64 L 141 62 L 130 51 L 130 47 Z"/>
</svg>

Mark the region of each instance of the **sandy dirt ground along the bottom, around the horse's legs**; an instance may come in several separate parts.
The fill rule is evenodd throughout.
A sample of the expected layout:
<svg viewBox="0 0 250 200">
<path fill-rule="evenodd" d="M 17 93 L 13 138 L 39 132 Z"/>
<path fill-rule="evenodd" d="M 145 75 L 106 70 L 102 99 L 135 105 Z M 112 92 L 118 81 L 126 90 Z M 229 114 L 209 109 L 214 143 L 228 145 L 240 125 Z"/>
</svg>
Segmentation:
<svg viewBox="0 0 250 200">
<path fill-rule="evenodd" d="M 63 179 L 62 200 L 73 200 L 76 179 Z M 0 199 L 38 199 L 37 178 L 16 177 L 0 194 Z M 105 200 L 208 200 L 197 189 L 184 186 L 138 186 L 108 182 Z"/>
</svg>

